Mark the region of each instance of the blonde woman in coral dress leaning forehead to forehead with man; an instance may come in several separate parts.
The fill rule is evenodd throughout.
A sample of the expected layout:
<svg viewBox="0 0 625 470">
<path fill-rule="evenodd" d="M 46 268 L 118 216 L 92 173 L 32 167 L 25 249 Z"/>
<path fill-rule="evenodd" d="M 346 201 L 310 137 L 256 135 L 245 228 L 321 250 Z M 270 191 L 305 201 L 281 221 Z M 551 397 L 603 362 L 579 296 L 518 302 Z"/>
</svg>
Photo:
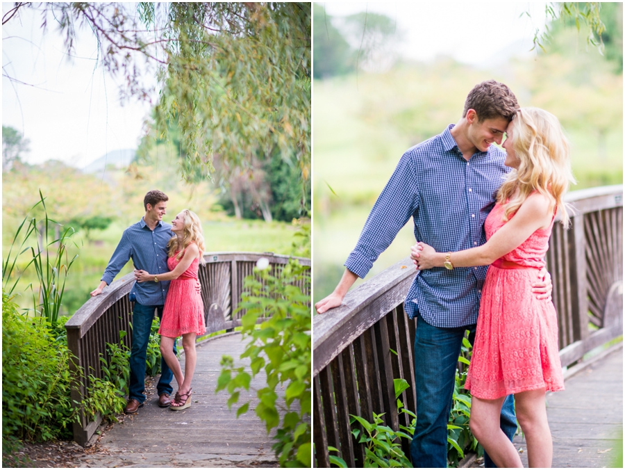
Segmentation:
<svg viewBox="0 0 625 470">
<path fill-rule="evenodd" d="M 522 467 L 499 428 L 503 400 L 515 395 L 530 467 L 551 467 L 553 444 L 545 392 L 564 389 L 558 355 L 558 325 L 551 300 L 531 295 L 558 208 L 569 181 L 569 145 L 558 119 L 537 108 L 522 108 L 506 130 L 505 164 L 514 170 L 497 193 L 485 221 L 485 245 L 437 253 L 417 243 L 417 269 L 485 266 L 474 352 L 465 388 L 472 392 L 469 426 L 497 467 Z M 562 225 L 569 218 L 561 210 Z"/>
</svg>

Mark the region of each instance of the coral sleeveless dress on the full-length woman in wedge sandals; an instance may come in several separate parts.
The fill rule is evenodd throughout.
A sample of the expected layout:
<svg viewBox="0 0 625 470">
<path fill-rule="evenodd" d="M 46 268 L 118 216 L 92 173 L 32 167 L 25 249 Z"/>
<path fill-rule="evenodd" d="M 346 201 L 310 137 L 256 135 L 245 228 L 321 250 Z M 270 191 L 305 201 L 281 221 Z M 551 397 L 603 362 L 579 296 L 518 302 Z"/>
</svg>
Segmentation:
<svg viewBox="0 0 625 470">
<path fill-rule="evenodd" d="M 172 271 L 179 262 L 176 257 L 169 257 L 167 268 Z M 198 268 L 199 259 L 196 258 L 178 279 L 169 283 L 158 334 L 176 338 L 186 333 L 195 333 L 198 336 L 206 333 L 202 296 L 196 290 Z"/>
</svg>

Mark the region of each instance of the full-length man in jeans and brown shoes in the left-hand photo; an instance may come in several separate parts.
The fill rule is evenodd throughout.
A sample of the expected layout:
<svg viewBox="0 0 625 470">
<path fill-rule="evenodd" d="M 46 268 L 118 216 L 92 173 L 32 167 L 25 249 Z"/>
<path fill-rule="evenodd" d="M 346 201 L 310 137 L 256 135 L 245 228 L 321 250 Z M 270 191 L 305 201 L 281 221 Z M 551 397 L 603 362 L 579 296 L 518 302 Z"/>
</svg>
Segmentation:
<svg viewBox="0 0 625 470">
<path fill-rule="evenodd" d="M 143 205 L 145 215 L 131 225 L 122 235 L 113 256 L 106 266 L 100 285 L 92 291 L 94 297 L 108 286 L 117 273 L 126 265 L 129 259 L 133 260 L 136 269 L 146 270 L 148 273 L 167 273 L 167 243 L 174 236 L 172 226 L 163 222 L 163 216 L 167 213 L 167 200 L 169 198 L 162 191 L 149 191 Z M 158 278 L 158 276 L 157 276 Z M 159 282 L 135 282 L 131 289 L 131 300 L 135 299 L 133 307 L 133 348 L 130 357 L 130 384 L 128 385 L 128 404 L 124 409 L 126 413 L 135 413 L 143 406 L 146 396 L 145 391 L 145 360 L 147 345 L 150 337 L 154 312 L 158 312 L 158 318 L 163 316 L 165 296 L 169 289 L 169 281 Z M 174 353 L 176 344 L 174 343 Z M 158 391 L 158 406 L 169 407 L 173 388 L 170 384 L 174 374 L 167 366 L 165 359 L 160 361 L 160 380 L 156 385 Z"/>
</svg>

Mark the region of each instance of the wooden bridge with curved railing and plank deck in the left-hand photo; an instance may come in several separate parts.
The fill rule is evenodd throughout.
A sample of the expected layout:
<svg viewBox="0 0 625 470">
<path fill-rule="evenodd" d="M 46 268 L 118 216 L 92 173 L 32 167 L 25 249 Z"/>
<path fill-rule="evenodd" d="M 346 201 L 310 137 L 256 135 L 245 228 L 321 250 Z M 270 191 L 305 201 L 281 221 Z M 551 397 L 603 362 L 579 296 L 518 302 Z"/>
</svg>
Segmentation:
<svg viewBox="0 0 625 470">
<path fill-rule="evenodd" d="M 233 312 L 240 302 L 243 279 L 253 273 L 256 261 L 262 257 L 269 259 L 273 275 L 289 259 L 273 253 L 213 252 L 204 255 L 206 265 L 200 267 L 199 279 L 206 330 L 207 334 L 220 334 L 198 344 L 192 406 L 182 412 L 170 412 L 156 405 L 158 397 L 148 396 L 137 415 L 128 416 L 123 425 L 108 432 L 106 439 L 101 439 L 101 444 L 111 455 L 119 453 L 119 459 L 110 462 L 99 460 L 94 462 L 94 467 L 127 465 L 130 457 L 139 458 L 137 453 L 144 457 L 147 455 L 146 460 L 130 462 L 138 467 L 148 463 L 153 466 L 165 460 L 165 467 L 173 467 L 176 462 L 189 467 L 192 466 L 190 461 L 203 462 L 201 467 L 213 466 L 215 462 L 222 462 L 219 466 L 224 467 L 228 466 L 228 462 L 240 460 L 256 466 L 263 466 L 262 463 L 267 460 L 273 462 L 272 439 L 267 436 L 264 423 L 253 412 L 256 407 L 254 391 L 251 390 L 247 398 L 246 392 L 241 391 L 240 403 L 247 399 L 252 402 L 250 411 L 240 419 L 236 419 L 236 406 L 232 411 L 226 406 L 228 394 L 215 395 L 222 355 L 233 357 L 235 364 L 244 364 L 238 358 L 246 344 L 242 343 L 241 335 L 233 330 L 240 325 L 245 311 Z M 296 259 L 303 266 L 310 266 L 310 259 Z M 69 349 L 78 358 L 75 364 L 71 364 L 76 373 L 82 370 L 91 371 L 96 377 L 103 376 L 100 358 L 110 360 L 106 343 L 119 343 L 119 332 L 130 331 L 132 306 L 128 293 L 133 282 L 133 273 L 113 282 L 101 295 L 88 300 L 65 324 Z M 309 278 L 298 281 L 297 286 L 310 294 Z M 258 320 L 262 321 L 263 318 Z M 131 334 L 127 334 L 122 341 L 131 348 Z M 251 387 L 254 389 L 265 386 L 263 371 L 253 382 Z M 147 389 L 147 392 L 149 394 L 150 390 Z M 72 389 L 72 399 L 81 403 L 89 393 L 90 380 L 85 378 Z M 89 419 L 81 412 L 80 421 L 74 423 L 74 440 L 85 446 L 100 423 L 101 416 Z M 190 429 L 193 432 L 189 432 Z M 126 455 L 126 460 L 122 454 Z"/>
</svg>

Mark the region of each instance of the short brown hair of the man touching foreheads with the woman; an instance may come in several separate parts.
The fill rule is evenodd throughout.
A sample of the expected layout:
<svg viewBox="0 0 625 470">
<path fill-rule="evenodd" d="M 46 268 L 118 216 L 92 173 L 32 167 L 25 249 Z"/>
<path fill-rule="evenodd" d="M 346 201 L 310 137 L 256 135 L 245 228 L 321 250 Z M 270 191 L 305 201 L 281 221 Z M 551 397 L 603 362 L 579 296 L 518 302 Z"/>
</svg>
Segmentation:
<svg viewBox="0 0 625 470">
<path fill-rule="evenodd" d="M 478 83 L 469 92 L 462 117 L 466 117 L 469 109 L 475 110 L 480 122 L 497 117 L 503 117 L 510 122 L 519 109 L 519 104 L 510 88 L 499 81 L 487 80 Z"/>
</svg>

